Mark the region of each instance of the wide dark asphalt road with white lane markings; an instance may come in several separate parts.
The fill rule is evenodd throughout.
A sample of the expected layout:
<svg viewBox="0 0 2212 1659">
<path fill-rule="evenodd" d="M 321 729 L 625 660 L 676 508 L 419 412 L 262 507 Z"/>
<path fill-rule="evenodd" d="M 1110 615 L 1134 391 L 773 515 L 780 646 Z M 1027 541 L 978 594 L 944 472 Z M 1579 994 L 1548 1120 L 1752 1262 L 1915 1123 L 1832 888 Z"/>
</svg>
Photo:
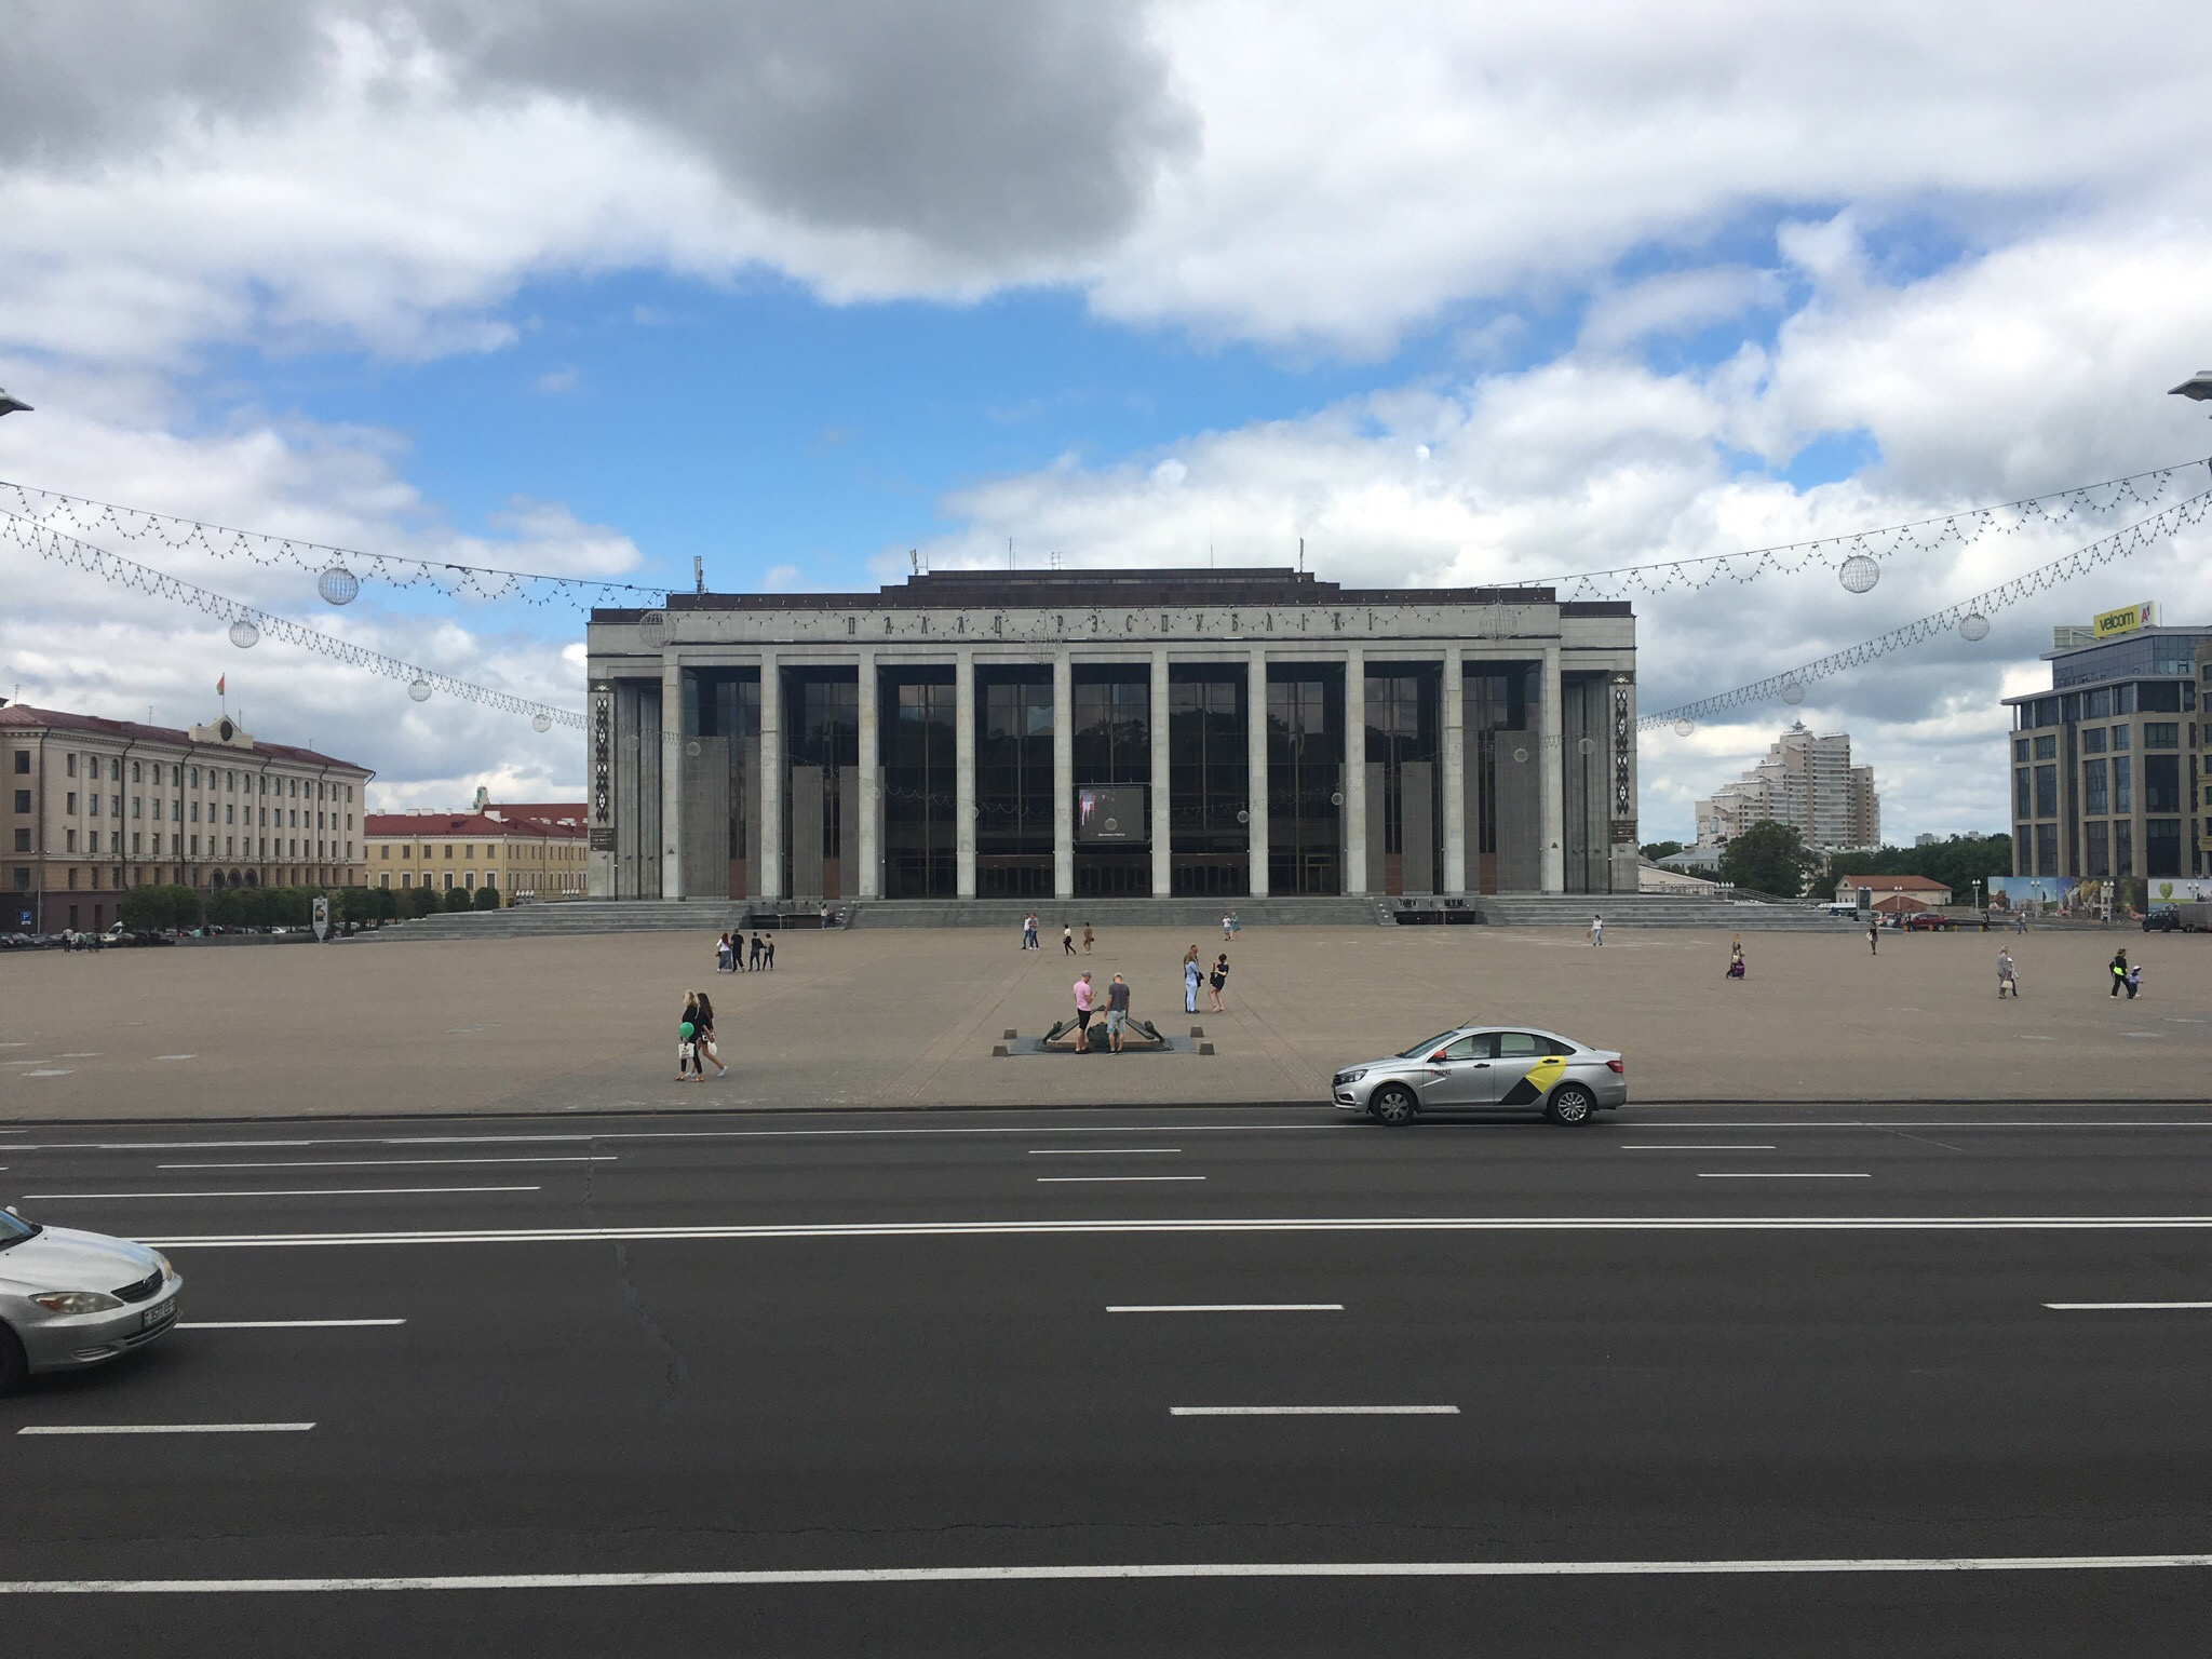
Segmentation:
<svg viewBox="0 0 2212 1659">
<path fill-rule="evenodd" d="M 2157 1108 L 11 1126 L 186 1327 L 0 1402 L 0 1630 L 2201 1652 L 2208 1181 Z"/>
</svg>

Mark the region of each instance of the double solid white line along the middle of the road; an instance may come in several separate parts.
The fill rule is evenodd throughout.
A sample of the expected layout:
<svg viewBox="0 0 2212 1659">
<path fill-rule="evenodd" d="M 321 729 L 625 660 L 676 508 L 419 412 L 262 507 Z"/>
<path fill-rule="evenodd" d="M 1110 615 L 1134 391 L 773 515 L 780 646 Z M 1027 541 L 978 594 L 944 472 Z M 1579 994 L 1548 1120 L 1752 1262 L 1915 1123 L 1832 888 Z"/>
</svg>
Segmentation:
<svg viewBox="0 0 2212 1659">
<path fill-rule="evenodd" d="M 2212 1232 L 2212 1214 L 1991 1217 L 1267 1217 L 1121 1221 L 821 1221 L 699 1228 L 447 1228 L 420 1232 L 173 1232 L 157 1250 L 321 1250 L 664 1239 L 1018 1239 L 1137 1232 Z"/>
</svg>

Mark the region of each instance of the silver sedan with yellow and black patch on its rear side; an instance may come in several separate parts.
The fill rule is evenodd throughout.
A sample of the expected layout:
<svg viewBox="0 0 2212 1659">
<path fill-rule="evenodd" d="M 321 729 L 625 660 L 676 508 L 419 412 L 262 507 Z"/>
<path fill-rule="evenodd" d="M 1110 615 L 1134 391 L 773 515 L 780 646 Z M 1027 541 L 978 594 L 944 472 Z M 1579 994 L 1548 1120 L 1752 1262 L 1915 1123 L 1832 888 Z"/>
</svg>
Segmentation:
<svg viewBox="0 0 2212 1659">
<path fill-rule="evenodd" d="M 1628 1068 L 1610 1048 L 1526 1026 L 1464 1024 L 1405 1053 L 1345 1066 L 1329 1095 L 1347 1113 L 1411 1124 L 1429 1110 L 1542 1110 L 1588 1124 L 1628 1102 Z"/>
</svg>

